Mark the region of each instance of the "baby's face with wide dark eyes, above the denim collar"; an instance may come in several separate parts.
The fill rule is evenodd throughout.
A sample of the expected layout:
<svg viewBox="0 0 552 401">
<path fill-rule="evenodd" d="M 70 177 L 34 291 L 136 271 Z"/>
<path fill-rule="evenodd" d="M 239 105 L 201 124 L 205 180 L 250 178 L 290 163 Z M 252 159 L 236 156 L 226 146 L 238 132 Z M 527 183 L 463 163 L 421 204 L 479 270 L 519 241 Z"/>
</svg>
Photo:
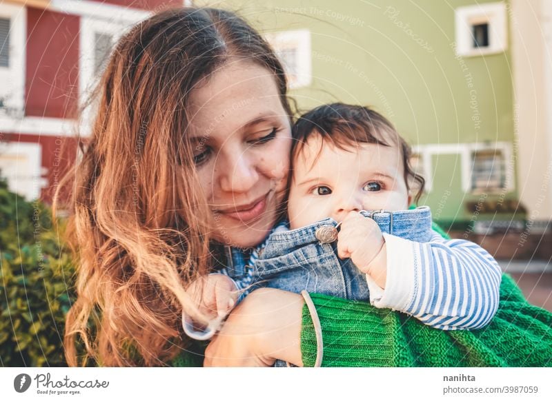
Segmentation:
<svg viewBox="0 0 552 401">
<path fill-rule="evenodd" d="M 396 211 L 410 204 L 397 146 L 359 143 L 340 150 L 313 135 L 294 165 L 288 199 L 292 229 L 327 217 L 339 222 L 353 210 Z"/>
</svg>

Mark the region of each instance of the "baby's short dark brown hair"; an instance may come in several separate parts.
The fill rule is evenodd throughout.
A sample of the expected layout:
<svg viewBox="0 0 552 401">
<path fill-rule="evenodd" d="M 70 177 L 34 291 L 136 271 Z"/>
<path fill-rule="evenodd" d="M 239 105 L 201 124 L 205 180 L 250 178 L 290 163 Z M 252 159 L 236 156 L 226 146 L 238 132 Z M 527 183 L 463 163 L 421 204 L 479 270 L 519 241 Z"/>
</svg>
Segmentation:
<svg viewBox="0 0 552 401">
<path fill-rule="evenodd" d="M 382 114 L 368 107 L 344 103 L 322 105 L 303 114 L 292 130 L 292 169 L 295 156 L 301 152 L 308 138 L 315 134 L 321 135 L 324 141 L 329 141 L 341 150 L 356 147 L 359 143 L 396 145 L 401 152 L 404 181 L 408 192 L 415 184 L 417 189 L 413 199 L 415 203 L 420 200 L 424 192 L 425 180 L 415 174 L 410 164 L 412 149 Z"/>
</svg>

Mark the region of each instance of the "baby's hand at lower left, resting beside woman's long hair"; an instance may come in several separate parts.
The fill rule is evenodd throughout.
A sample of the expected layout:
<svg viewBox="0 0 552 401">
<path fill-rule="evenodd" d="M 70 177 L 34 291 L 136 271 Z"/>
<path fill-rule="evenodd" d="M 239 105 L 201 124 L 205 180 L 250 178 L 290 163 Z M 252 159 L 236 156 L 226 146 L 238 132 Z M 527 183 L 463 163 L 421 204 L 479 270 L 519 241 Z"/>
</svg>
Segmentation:
<svg viewBox="0 0 552 401">
<path fill-rule="evenodd" d="M 193 281 L 188 295 L 209 319 L 223 319 L 232 311 L 238 294 L 235 282 L 224 274 L 209 274 Z"/>
</svg>

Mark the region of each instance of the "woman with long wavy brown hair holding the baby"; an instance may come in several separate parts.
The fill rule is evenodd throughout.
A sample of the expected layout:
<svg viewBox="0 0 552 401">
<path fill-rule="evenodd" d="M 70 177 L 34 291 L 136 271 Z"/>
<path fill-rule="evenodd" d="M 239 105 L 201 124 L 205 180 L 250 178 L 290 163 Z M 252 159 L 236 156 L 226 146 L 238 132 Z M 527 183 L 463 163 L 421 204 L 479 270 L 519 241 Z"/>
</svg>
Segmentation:
<svg viewBox="0 0 552 401">
<path fill-rule="evenodd" d="M 275 224 L 291 145 L 286 90 L 273 51 L 230 12 L 169 10 L 121 39 L 96 93 L 92 136 L 67 178 L 75 180 L 68 238 L 79 257 L 65 336 L 71 366 L 198 362 L 183 351 L 195 347 L 181 312 L 198 316 L 186 287 L 229 260 L 243 265 Z M 228 256 L 221 263 L 219 250 Z M 205 364 L 320 363 L 324 338 L 324 364 L 480 363 L 475 351 L 466 359 L 457 333 L 439 331 L 449 352 L 420 351 L 416 338 L 435 330 L 400 313 L 305 299 L 254 291 L 210 343 Z M 411 356 L 420 352 L 433 359 Z M 400 358 L 380 358 L 386 353 Z"/>
</svg>

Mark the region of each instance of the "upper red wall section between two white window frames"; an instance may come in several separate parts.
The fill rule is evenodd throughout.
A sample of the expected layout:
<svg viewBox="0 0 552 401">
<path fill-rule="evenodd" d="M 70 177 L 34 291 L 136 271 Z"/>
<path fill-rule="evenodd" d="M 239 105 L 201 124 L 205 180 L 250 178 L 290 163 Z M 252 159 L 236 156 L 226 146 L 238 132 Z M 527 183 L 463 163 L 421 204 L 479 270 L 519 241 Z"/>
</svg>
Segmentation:
<svg viewBox="0 0 552 401">
<path fill-rule="evenodd" d="M 75 15 L 27 8 L 26 116 L 75 117 L 79 23 Z"/>
</svg>

